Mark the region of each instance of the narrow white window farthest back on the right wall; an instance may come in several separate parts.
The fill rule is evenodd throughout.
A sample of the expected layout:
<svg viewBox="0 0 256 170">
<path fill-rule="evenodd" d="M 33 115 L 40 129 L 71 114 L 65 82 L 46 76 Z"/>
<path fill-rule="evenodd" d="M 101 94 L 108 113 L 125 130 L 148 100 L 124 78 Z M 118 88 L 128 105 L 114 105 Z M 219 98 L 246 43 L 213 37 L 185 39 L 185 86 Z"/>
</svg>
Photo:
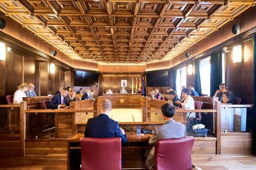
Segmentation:
<svg viewBox="0 0 256 170">
<path fill-rule="evenodd" d="M 186 66 L 177 69 L 177 75 L 176 75 L 176 90 L 177 95 L 181 96 L 181 87 L 185 86 L 187 84 L 187 72 L 186 72 Z"/>
</svg>

